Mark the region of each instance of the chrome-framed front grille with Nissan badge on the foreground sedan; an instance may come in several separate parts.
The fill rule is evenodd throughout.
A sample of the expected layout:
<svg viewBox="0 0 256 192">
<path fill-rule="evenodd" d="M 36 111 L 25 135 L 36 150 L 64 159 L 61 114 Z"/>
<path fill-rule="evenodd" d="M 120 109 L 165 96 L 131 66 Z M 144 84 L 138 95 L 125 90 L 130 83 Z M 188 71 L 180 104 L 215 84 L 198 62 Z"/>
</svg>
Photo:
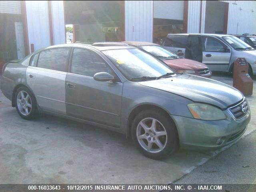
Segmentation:
<svg viewBox="0 0 256 192">
<path fill-rule="evenodd" d="M 242 108 L 244 108 L 244 111 Z M 246 99 L 244 98 L 238 104 L 234 104 L 234 106 L 228 108 L 228 110 L 236 120 L 240 120 L 248 114 L 249 107 Z"/>
</svg>

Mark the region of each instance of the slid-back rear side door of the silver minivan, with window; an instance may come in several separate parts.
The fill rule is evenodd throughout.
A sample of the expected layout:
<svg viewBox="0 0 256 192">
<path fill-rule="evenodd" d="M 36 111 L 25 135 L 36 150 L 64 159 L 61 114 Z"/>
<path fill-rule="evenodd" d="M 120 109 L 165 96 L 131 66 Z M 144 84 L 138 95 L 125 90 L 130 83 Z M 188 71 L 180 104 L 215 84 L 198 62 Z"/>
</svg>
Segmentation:
<svg viewBox="0 0 256 192">
<path fill-rule="evenodd" d="M 168 35 L 164 41 L 164 48 L 176 55 L 185 58 L 188 35 Z"/>
</svg>

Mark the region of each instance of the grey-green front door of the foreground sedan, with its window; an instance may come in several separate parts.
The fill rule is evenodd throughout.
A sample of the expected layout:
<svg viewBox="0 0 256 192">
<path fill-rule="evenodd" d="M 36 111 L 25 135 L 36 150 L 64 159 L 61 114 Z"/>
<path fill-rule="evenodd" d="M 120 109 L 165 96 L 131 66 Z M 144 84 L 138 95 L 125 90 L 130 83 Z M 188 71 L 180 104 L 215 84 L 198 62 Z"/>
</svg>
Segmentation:
<svg viewBox="0 0 256 192">
<path fill-rule="evenodd" d="M 93 76 L 98 72 L 116 76 L 99 54 L 74 48 L 66 77 L 67 115 L 119 128 L 123 84 L 96 81 Z"/>
</svg>

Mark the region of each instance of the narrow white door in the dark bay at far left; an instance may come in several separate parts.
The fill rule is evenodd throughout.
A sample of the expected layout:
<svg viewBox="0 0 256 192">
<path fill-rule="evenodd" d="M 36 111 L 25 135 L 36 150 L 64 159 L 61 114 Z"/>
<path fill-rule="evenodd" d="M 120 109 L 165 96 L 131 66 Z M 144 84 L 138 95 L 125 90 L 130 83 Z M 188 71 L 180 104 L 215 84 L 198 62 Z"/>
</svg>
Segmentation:
<svg viewBox="0 0 256 192">
<path fill-rule="evenodd" d="M 15 35 L 18 59 L 25 57 L 24 35 L 22 22 L 15 22 Z"/>
</svg>

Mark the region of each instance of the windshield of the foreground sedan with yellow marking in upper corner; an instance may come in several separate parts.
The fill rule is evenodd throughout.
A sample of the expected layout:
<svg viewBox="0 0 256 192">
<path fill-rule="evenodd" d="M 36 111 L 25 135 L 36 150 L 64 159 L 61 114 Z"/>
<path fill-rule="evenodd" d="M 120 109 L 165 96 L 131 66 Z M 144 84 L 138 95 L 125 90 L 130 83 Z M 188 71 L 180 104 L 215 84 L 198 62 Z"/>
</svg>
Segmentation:
<svg viewBox="0 0 256 192">
<path fill-rule="evenodd" d="M 139 49 L 106 50 L 103 53 L 128 80 L 172 73 L 167 65 Z"/>
</svg>

